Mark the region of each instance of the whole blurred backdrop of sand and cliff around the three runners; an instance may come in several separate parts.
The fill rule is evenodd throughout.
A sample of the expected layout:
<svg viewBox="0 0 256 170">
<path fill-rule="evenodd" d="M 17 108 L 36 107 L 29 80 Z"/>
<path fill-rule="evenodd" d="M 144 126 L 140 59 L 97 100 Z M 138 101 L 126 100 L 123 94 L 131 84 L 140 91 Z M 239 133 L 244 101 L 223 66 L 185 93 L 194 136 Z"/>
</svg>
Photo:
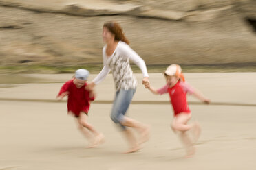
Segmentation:
<svg viewBox="0 0 256 170">
<path fill-rule="evenodd" d="M 195 158 L 183 159 L 171 132 L 169 96 L 149 93 L 134 65 L 138 87 L 129 114 L 151 125 L 149 143 L 119 154 L 126 143 L 109 119 L 109 74 L 89 111 L 106 143 L 84 148 L 66 101 L 55 97 L 76 69 L 102 69 L 102 27 L 111 20 L 145 60 L 153 86 L 163 86 L 161 72 L 176 63 L 211 99 L 206 106 L 188 97 L 203 130 Z M 0 0 L 0 170 L 255 169 L 255 22 L 256 0 Z"/>
</svg>

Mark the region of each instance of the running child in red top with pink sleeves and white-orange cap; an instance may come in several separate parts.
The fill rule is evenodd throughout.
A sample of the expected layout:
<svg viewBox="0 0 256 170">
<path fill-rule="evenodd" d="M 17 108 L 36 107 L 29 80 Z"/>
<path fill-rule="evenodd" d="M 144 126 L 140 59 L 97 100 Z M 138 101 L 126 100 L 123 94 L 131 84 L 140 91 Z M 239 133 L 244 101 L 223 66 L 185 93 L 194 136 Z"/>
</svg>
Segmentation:
<svg viewBox="0 0 256 170">
<path fill-rule="evenodd" d="M 206 104 L 210 104 L 210 100 L 206 99 L 198 90 L 193 89 L 189 84 L 184 82 L 184 76 L 181 73 L 181 68 L 177 64 L 171 64 L 164 73 L 167 84 L 162 88 L 156 89 L 146 84 L 145 87 L 149 88 L 154 94 L 169 93 L 171 99 L 171 105 L 173 106 L 174 119 L 171 123 L 173 132 L 180 132 L 181 141 L 186 147 L 186 157 L 191 157 L 195 154 L 195 146 L 193 143 L 198 140 L 200 135 L 200 125 L 195 122 L 188 124 L 191 119 L 191 111 L 186 101 L 186 93 L 190 93 L 195 97 L 198 97 Z M 193 130 L 193 136 L 195 141 L 192 142 L 186 133 L 189 130 Z"/>
</svg>

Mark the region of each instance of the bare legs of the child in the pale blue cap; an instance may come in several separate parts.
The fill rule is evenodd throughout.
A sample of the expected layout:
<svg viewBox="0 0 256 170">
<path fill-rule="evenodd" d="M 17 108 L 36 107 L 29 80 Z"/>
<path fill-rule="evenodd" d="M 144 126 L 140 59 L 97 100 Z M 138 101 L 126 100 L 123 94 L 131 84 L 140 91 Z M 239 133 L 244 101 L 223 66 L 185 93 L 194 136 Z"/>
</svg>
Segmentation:
<svg viewBox="0 0 256 170">
<path fill-rule="evenodd" d="M 88 116 L 84 112 L 81 112 L 81 114 L 78 117 L 78 123 L 85 127 L 86 129 L 83 129 L 83 133 L 87 136 L 92 132 L 94 134 L 94 141 L 92 142 L 92 147 L 96 147 L 99 143 L 102 143 L 104 141 L 103 134 L 99 133 L 91 124 L 87 122 Z"/>
</svg>

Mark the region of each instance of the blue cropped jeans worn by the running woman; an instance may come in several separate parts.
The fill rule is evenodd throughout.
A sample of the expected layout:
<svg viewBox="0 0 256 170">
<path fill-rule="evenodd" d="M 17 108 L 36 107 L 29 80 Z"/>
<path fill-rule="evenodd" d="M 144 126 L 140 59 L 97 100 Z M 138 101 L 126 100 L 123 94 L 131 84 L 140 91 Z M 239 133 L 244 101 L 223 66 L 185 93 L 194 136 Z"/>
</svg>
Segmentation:
<svg viewBox="0 0 256 170">
<path fill-rule="evenodd" d="M 124 121 L 124 116 L 131 104 L 131 99 L 134 96 L 135 91 L 136 89 L 120 89 L 116 92 L 116 97 L 111 111 L 111 119 L 114 123 L 118 123 L 123 130 L 125 130 L 125 126 L 122 125 L 122 121 Z"/>
</svg>

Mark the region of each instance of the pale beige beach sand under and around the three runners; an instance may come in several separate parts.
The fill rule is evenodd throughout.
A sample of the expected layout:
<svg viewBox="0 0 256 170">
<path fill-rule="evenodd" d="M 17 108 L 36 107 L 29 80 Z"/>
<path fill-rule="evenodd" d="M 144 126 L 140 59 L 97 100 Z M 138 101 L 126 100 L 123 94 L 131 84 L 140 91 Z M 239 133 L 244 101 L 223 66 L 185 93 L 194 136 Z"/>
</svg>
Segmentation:
<svg viewBox="0 0 256 170">
<path fill-rule="evenodd" d="M 215 103 L 190 105 L 193 119 L 202 125 L 202 136 L 197 143 L 197 153 L 189 159 L 182 157 L 184 149 L 169 128 L 172 119 L 169 104 L 130 106 L 130 117 L 151 125 L 151 138 L 138 153 L 122 154 L 127 143 L 109 118 L 111 104 L 95 102 L 89 112 L 89 122 L 105 134 L 106 141 L 98 148 L 86 149 L 87 141 L 78 132 L 74 119 L 67 116 L 65 102 L 36 101 L 54 101 L 62 82 L 71 75 L 29 76 L 41 77 L 48 83 L 13 84 L 10 88 L 0 88 L 0 169 L 234 170 L 256 167 L 256 73 L 185 74 L 190 84 Z M 142 75 L 136 76 L 140 81 Z M 157 87 L 164 84 L 160 73 L 150 74 L 150 80 Z M 96 91 L 96 101 L 113 99 L 111 75 Z M 168 96 L 151 95 L 139 84 L 134 101 L 168 101 Z M 189 97 L 189 101 L 196 100 Z M 217 105 L 218 102 L 241 106 Z"/>
</svg>

